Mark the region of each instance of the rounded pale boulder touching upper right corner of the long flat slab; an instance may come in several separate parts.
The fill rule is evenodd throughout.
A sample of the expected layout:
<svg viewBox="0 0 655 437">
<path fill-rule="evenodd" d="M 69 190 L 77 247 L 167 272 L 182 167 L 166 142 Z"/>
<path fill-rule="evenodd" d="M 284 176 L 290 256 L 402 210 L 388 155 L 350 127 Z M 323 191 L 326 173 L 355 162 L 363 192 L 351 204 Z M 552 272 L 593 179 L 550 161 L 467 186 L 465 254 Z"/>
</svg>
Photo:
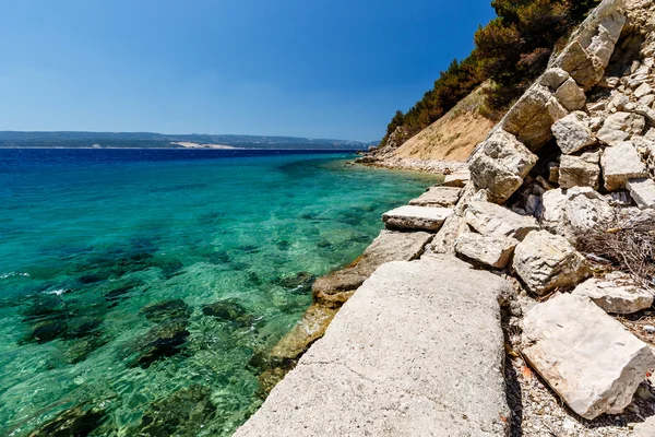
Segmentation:
<svg viewBox="0 0 655 437">
<path fill-rule="evenodd" d="M 544 295 L 576 285 L 591 274 L 586 259 L 567 239 L 548 231 L 533 231 L 514 250 L 512 263 L 527 288 Z"/>
</svg>

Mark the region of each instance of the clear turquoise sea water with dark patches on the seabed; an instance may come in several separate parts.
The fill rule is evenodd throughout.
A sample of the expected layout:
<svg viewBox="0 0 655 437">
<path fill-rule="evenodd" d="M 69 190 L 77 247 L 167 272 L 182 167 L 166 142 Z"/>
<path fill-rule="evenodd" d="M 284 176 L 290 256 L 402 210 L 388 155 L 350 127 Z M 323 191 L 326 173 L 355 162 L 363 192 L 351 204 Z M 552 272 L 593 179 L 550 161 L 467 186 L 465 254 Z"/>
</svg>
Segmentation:
<svg viewBox="0 0 655 437">
<path fill-rule="evenodd" d="M 434 182 L 352 157 L 0 150 L 0 435 L 230 435 L 311 276 Z"/>
</svg>

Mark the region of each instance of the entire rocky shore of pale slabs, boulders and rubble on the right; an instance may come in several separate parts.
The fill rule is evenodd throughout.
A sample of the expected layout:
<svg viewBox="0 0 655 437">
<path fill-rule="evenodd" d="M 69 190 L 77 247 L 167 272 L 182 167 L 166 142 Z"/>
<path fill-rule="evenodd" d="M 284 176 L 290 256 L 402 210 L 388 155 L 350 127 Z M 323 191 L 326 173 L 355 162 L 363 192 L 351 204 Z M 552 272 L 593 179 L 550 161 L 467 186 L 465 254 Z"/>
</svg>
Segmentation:
<svg viewBox="0 0 655 437">
<path fill-rule="evenodd" d="M 456 170 L 313 284 L 237 436 L 655 435 L 655 2 L 604 0 Z"/>
</svg>

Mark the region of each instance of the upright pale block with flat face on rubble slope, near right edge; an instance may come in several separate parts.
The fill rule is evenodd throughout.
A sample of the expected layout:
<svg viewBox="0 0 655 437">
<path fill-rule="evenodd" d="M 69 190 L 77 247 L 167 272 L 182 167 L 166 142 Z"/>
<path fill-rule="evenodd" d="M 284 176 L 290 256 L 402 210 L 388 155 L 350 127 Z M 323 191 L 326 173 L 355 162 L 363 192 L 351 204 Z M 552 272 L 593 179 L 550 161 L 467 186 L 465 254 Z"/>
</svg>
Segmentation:
<svg viewBox="0 0 655 437">
<path fill-rule="evenodd" d="M 628 179 L 648 176 L 646 165 L 642 163 L 634 144 L 624 141 L 605 149 L 600 157 L 605 188 L 608 191 L 620 191 L 626 188 Z"/>
</svg>

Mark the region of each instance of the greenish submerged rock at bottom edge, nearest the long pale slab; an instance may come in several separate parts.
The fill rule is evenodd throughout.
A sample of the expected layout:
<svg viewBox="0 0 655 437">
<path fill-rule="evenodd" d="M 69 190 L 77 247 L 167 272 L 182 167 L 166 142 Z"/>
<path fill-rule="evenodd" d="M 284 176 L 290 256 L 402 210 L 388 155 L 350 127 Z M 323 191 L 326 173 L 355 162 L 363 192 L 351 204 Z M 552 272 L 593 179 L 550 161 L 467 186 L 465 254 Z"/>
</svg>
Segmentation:
<svg viewBox="0 0 655 437">
<path fill-rule="evenodd" d="M 211 394 L 210 388 L 192 385 L 155 401 L 143 413 L 140 426 L 127 435 L 195 437 L 216 412 Z"/>
</svg>

